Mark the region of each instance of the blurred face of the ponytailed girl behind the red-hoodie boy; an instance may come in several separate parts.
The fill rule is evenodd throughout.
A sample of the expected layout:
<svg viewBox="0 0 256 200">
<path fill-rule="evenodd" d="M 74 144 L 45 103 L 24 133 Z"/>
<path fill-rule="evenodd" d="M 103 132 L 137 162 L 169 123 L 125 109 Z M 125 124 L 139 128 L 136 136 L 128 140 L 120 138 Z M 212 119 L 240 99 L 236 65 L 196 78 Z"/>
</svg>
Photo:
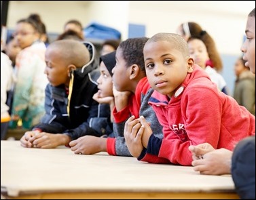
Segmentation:
<svg viewBox="0 0 256 200">
<path fill-rule="evenodd" d="M 210 59 L 204 42 L 200 39 L 188 41 L 189 55 L 194 59 L 195 64 L 202 68 L 206 67 L 206 62 Z"/>
</svg>

